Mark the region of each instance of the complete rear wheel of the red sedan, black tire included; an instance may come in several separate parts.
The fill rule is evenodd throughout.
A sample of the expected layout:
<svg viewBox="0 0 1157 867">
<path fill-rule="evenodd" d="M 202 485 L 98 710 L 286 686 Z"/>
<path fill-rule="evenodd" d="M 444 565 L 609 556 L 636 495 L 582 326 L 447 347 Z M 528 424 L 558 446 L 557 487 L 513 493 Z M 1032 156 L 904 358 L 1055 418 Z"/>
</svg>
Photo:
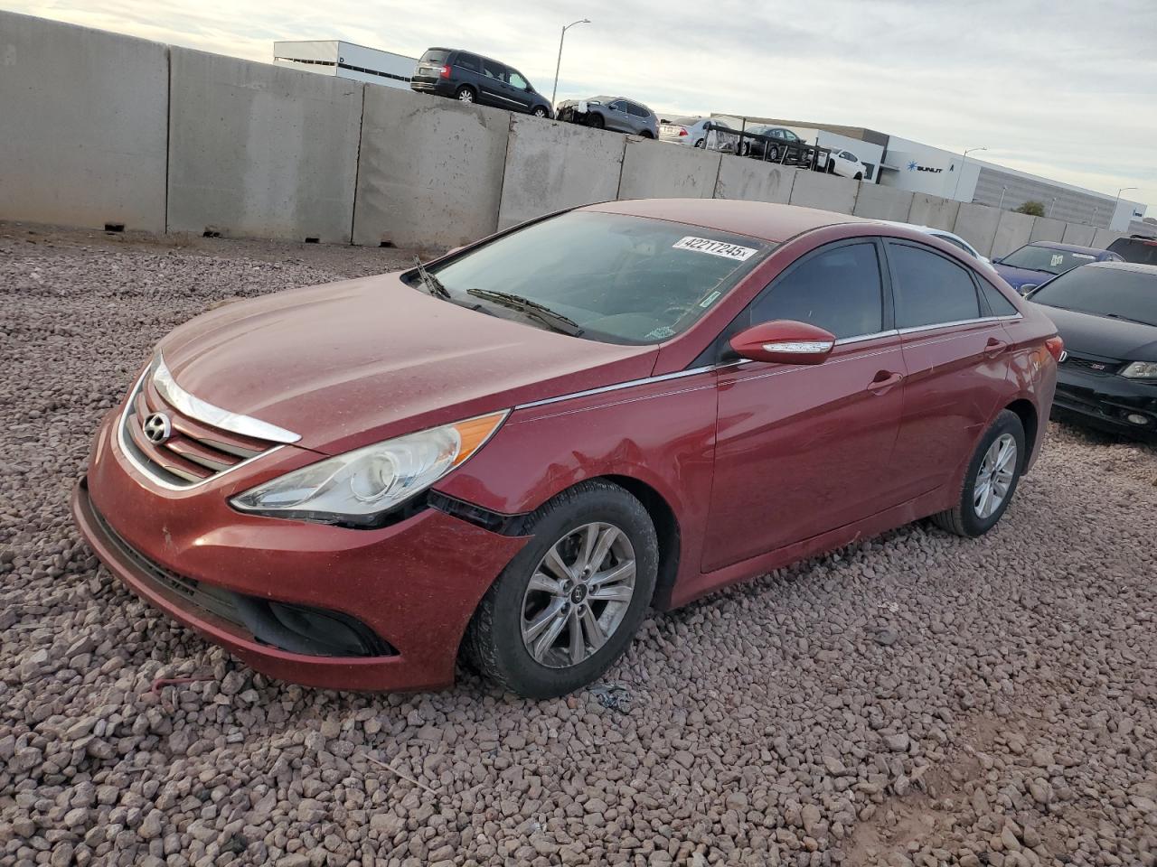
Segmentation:
<svg viewBox="0 0 1157 867">
<path fill-rule="evenodd" d="M 998 472 L 995 476 L 997 483 L 983 488 L 983 479 L 994 475 L 989 468 L 992 462 L 994 460 L 1000 462 L 1001 454 L 1009 444 L 1016 447 L 1015 454 L 1005 457 L 1004 464 L 998 464 L 1002 469 L 1008 470 L 1008 474 Z M 964 484 L 960 487 L 960 498 L 956 506 L 934 514 L 933 523 L 941 529 L 967 538 L 983 535 L 995 527 L 1012 501 L 1012 495 L 1016 494 L 1017 483 L 1024 472 L 1026 454 L 1024 425 L 1020 423 L 1019 416 L 1009 409 L 1001 412 L 996 416 L 996 421 L 985 431 L 985 436 L 980 438 L 980 444 L 977 446 L 972 460 L 968 461 L 968 468 L 964 474 Z M 1004 488 L 1004 492 L 995 507 L 993 507 L 992 501 L 981 499 L 986 490 L 998 494 L 1001 487 Z M 981 502 L 978 503 L 978 499 Z"/>
</svg>

